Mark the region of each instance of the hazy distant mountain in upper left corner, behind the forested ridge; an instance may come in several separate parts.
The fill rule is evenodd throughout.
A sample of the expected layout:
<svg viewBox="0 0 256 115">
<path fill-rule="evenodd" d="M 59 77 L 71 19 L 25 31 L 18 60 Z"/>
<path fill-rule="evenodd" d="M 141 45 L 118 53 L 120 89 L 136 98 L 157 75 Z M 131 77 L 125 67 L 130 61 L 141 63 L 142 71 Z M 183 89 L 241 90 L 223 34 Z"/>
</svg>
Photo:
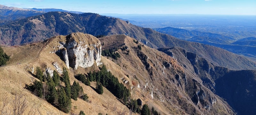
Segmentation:
<svg viewBox="0 0 256 115">
<path fill-rule="evenodd" d="M 8 7 L 0 4 L 0 23 L 43 14 L 43 11 Z"/>
</svg>

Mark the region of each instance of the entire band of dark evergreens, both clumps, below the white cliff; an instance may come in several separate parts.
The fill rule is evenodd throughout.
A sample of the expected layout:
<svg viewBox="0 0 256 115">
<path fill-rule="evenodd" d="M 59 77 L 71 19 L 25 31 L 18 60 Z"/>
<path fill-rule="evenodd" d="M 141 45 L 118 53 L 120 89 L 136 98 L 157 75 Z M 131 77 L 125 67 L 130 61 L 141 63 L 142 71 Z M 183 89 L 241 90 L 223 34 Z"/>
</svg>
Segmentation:
<svg viewBox="0 0 256 115">
<path fill-rule="evenodd" d="M 60 76 L 56 71 L 53 72 L 53 76 L 50 77 L 49 73 L 44 77 L 42 70 L 36 67 L 36 78 L 33 84 L 25 85 L 25 88 L 33 92 L 36 96 L 46 99 L 47 102 L 56 106 L 60 111 L 68 113 L 71 110 L 71 99 L 77 100 L 77 97 L 87 101 L 88 96 L 84 94 L 83 88 L 78 82 L 74 81 L 73 85 L 70 85 L 68 76 L 68 70 L 64 67 L 63 74 Z M 109 72 L 105 65 L 100 68 L 98 72 L 89 72 L 88 75 L 77 74 L 75 78 L 85 85 L 90 85 L 90 81 L 97 81 L 96 91 L 99 94 L 103 94 L 103 86 L 107 88 L 113 95 L 119 98 L 123 103 L 132 110 L 132 112 L 141 113 L 141 115 L 160 115 L 152 107 L 151 112 L 147 104 L 140 109 L 141 100 L 131 99 L 128 102 L 128 97 L 131 95 L 129 90 L 118 82 L 118 79 Z M 64 82 L 65 87 L 60 85 L 60 81 Z M 127 103 L 128 102 L 128 103 Z M 84 115 L 83 111 L 80 111 L 81 115 Z"/>
</svg>

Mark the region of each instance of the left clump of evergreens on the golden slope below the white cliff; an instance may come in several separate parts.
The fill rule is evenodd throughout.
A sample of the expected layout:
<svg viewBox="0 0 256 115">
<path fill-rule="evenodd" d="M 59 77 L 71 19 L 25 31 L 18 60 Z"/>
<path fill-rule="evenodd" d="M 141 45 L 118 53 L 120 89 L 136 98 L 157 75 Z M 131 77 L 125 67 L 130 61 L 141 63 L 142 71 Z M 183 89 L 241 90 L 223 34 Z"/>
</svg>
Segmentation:
<svg viewBox="0 0 256 115">
<path fill-rule="evenodd" d="M 52 77 L 49 73 L 44 77 L 42 70 L 36 67 L 36 78 L 40 81 L 35 80 L 33 84 L 26 84 L 25 88 L 32 91 L 36 96 L 46 99 L 47 102 L 55 105 L 60 111 L 65 113 L 70 111 L 71 98 L 74 100 L 77 100 L 77 97 L 83 100 L 88 99 L 79 83 L 74 81 L 73 85 L 70 85 L 68 70 L 65 67 L 61 77 L 55 70 Z M 60 80 L 64 82 L 65 87 L 60 85 Z"/>
</svg>

